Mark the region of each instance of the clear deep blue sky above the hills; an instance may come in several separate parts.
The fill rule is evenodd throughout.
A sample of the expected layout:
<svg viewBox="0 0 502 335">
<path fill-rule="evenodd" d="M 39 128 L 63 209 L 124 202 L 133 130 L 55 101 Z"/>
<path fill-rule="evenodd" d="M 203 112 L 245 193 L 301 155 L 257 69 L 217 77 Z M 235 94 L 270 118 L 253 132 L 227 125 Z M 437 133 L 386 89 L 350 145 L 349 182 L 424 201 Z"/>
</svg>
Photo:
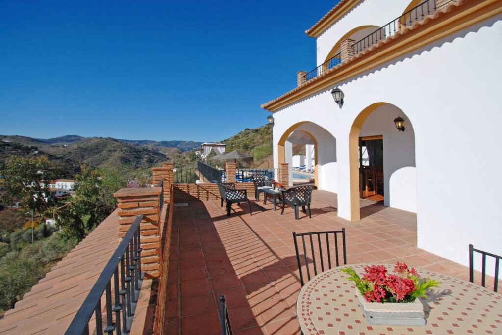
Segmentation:
<svg viewBox="0 0 502 335">
<path fill-rule="evenodd" d="M 338 0 L 0 2 L 0 134 L 218 141 L 315 67 Z"/>
</svg>

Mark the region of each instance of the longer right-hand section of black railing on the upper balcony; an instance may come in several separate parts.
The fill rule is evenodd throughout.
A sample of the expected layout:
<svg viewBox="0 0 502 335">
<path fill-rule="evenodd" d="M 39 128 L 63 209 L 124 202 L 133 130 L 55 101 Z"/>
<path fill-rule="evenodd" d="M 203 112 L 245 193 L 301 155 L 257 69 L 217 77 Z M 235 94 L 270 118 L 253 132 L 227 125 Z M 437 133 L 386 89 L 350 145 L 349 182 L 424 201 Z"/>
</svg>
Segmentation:
<svg viewBox="0 0 502 335">
<path fill-rule="evenodd" d="M 436 10 L 436 0 L 425 0 L 417 7 L 355 42 L 352 45 L 354 54 L 357 55 L 359 52 L 366 50 L 374 44 L 378 44 L 389 36 L 396 35 L 397 32 L 402 31 L 406 27 L 413 26 L 415 22 L 422 21 L 425 16 L 434 14 Z"/>
</svg>

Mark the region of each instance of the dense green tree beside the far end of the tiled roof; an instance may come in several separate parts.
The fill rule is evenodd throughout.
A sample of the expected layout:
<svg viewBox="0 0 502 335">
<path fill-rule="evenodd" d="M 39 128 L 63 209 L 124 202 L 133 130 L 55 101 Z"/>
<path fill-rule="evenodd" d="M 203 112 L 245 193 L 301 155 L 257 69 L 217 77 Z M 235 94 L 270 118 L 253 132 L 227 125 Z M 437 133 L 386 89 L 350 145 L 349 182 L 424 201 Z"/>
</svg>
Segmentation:
<svg viewBox="0 0 502 335">
<path fill-rule="evenodd" d="M 65 235 L 81 241 L 112 210 L 113 207 L 105 201 L 97 171 L 82 166 L 81 172 L 75 176 L 74 196 L 55 208 L 54 213 Z"/>
</svg>

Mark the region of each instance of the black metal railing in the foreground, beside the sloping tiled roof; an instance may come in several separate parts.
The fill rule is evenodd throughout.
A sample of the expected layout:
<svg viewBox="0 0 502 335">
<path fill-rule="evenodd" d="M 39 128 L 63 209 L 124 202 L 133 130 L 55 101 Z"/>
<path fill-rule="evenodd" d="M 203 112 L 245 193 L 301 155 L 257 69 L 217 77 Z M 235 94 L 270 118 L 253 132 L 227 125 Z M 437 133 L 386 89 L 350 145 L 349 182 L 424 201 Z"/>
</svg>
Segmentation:
<svg viewBox="0 0 502 335">
<path fill-rule="evenodd" d="M 103 331 L 108 334 L 115 332 L 118 335 L 129 334 L 131 331 L 144 275 L 141 272 L 140 257 L 142 219 L 143 215 L 136 217 L 80 306 L 65 335 L 89 334 L 89 329 L 91 333 L 97 335 L 101 335 Z M 101 306 L 103 294 L 105 294 L 105 320 Z M 93 314 L 95 329 L 89 328 Z"/>
</svg>

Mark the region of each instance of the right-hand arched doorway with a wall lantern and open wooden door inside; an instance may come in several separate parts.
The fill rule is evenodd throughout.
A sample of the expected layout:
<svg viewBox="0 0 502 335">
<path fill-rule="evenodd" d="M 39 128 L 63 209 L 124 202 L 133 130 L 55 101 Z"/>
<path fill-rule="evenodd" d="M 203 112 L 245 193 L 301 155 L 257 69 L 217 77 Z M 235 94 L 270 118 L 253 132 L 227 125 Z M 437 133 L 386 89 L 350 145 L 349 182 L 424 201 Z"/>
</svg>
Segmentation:
<svg viewBox="0 0 502 335">
<path fill-rule="evenodd" d="M 405 131 L 396 128 L 394 119 L 397 117 L 405 120 Z M 382 148 L 377 149 L 382 150 L 380 161 L 362 162 L 361 143 L 365 140 L 381 141 L 378 143 Z M 349 165 L 353 219 L 360 218 L 360 198 L 367 196 L 364 192 L 371 188 L 383 197 L 386 206 L 416 212 L 415 132 L 399 107 L 378 102 L 359 113 L 349 133 Z M 369 182 L 367 170 L 373 171 Z"/>
</svg>

